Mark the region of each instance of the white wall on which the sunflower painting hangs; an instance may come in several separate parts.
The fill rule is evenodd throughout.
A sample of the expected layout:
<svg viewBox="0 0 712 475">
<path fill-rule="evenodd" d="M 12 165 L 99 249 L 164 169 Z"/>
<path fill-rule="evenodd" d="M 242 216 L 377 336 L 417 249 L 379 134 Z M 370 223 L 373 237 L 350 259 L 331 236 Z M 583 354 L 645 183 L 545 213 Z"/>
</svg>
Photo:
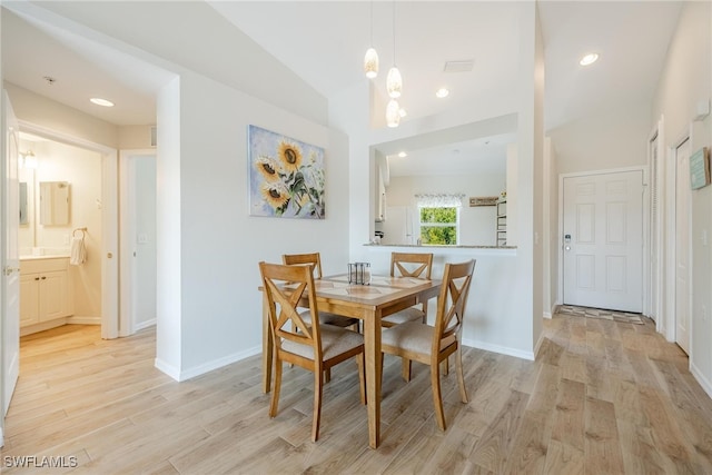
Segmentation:
<svg viewBox="0 0 712 475">
<path fill-rule="evenodd" d="M 159 245 L 179 239 L 178 256 L 165 258 L 180 261 L 180 280 L 169 291 L 180 295 L 181 350 L 174 369 L 184 379 L 260 350 L 260 260 L 318 250 L 325 271 L 344 268 L 348 215 L 339 210 L 348 208 L 348 154 L 346 140 L 327 128 L 195 72 L 181 72 L 179 89 L 179 150 L 164 149 L 159 130 L 157 212 L 178 212 L 180 220 L 175 237 L 161 234 L 159 218 Z M 159 125 L 165 113 L 170 111 L 159 109 Z M 325 148 L 326 219 L 248 215 L 248 125 Z M 176 160 L 179 176 L 161 172 L 161 162 Z M 179 208 L 161 201 L 164 182 L 179 190 L 172 197 Z M 160 260 L 159 254 L 159 283 Z M 169 318 L 161 311 L 159 305 L 159 335 L 161 318 Z"/>
</svg>

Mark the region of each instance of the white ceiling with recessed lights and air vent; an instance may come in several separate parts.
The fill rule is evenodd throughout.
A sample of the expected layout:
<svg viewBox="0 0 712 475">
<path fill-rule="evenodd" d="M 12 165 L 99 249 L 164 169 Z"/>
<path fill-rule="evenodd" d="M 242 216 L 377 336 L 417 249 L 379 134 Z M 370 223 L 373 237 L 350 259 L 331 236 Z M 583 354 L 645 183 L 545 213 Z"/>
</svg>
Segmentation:
<svg viewBox="0 0 712 475">
<path fill-rule="evenodd" d="M 367 80 L 362 61 L 370 44 L 369 1 L 209 3 L 326 97 Z M 375 1 L 378 96 L 385 98 L 385 76 L 394 62 L 394 7 L 395 60 L 404 78 L 400 105 L 408 112 L 403 120 L 516 93 L 518 2 Z M 680 1 L 538 2 L 546 129 L 625 103 L 650 103 L 680 8 Z M 166 71 L 7 9 L 1 34 L 8 81 L 116 125 L 155 123 L 155 97 L 170 77 Z M 601 59 L 582 68 L 577 60 L 589 51 L 599 52 Z M 473 60 L 472 71 L 443 71 L 446 61 L 456 60 Z M 50 86 L 44 76 L 57 81 Z M 448 98 L 435 98 L 441 86 L 451 89 Z M 117 106 L 99 108 L 88 102 L 89 96 L 111 99 Z M 486 160 L 483 157 L 495 149 L 504 154 L 506 145 L 501 141 L 500 137 L 487 146 L 478 139 L 447 144 L 444 149 L 423 147 L 429 155 L 409 150 L 406 168 L 412 169 L 418 156 L 433 162 L 428 156 L 453 155 L 454 148 L 459 157 Z M 397 175 L 398 167 L 393 166 L 392 172 Z"/>
</svg>

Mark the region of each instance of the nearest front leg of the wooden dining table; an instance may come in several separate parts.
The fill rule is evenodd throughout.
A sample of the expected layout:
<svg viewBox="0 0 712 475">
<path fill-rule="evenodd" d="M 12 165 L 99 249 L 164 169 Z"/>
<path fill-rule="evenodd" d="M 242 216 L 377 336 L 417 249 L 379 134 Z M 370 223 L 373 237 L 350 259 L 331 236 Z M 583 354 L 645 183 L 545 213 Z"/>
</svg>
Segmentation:
<svg viewBox="0 0 712 475">
<path fill-rule="evenodd" d="M 368 445 L 380 444 L 380 311 L 364 319 L 366 352 L 366 402 L 368 409 Z"/>
</svg>

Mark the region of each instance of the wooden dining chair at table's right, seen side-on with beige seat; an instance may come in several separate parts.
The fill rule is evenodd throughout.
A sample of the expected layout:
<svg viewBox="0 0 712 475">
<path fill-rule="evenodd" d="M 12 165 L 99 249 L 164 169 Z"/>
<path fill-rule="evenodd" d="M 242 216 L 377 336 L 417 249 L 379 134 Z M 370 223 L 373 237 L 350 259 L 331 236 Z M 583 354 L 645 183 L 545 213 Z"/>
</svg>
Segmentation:
<svg viewBox="0 0 712 475">
<path fill-rule="evenodd" d="M 446 424 L 443 412 L 439 366 L 452 354 L 455 354 L 459 396 L 463 403 L 467 403 L 459 338 L 474 269 L 474 259 L 445 265 L 443 285 L 437 297 L 435 326 L 422 321 L 407 321 L 386 328 L 382 334 L 380 347 L 384 354 L 400 356 L 408 363 L 416 360 L 431 366 L 433 404 L 437 425 L 442 431 L 445 431 Z"/>
</svg>

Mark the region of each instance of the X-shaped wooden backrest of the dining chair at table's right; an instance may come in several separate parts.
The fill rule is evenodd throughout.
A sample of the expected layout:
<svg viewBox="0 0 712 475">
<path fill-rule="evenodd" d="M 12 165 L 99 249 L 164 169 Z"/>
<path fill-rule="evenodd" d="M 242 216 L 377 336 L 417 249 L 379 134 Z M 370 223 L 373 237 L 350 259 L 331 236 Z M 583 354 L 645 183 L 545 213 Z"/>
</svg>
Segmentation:
<svg viewBox="0 0 712 475">
<path fill-rule="evenodd" d="M 458 337 L 465 318 L 465 305 L 474 270 L 475 259 L 445 265 L 443 286 L 437 297 L 433 355 L 442 349 L 443 343 L 448 344 L 453 338 Z"/>
</svg>

